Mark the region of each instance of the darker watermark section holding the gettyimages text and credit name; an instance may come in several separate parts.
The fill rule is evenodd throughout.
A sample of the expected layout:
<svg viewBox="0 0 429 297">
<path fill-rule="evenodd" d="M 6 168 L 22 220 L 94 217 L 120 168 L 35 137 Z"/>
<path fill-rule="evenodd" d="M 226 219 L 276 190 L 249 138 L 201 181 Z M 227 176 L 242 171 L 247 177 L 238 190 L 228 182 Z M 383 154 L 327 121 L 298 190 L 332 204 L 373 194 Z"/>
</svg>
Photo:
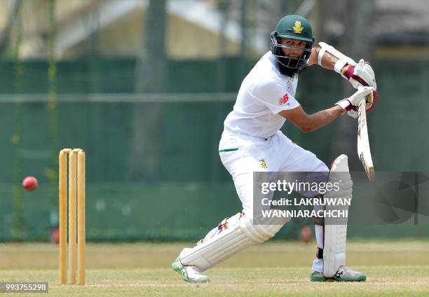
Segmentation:
<svg viewBox="0 0 429 297">
<path fill-rule="evenodd" d="M 254 172 L 254 217 L 273 219 L 347 219 L 350 176 L 325 172 Z M 282 223 L 279 221 L 278 223 Z M 347 223 L 334 220 L 333 224 Z"/>
</svg>

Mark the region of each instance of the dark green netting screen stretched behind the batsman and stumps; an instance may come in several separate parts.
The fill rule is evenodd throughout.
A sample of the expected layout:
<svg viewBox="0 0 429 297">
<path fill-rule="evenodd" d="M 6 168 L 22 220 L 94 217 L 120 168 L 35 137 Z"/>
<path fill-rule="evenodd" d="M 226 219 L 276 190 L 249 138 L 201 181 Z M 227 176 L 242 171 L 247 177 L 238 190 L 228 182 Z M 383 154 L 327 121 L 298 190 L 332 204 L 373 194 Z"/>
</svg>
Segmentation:
<svg viewBox="0 0 429 297">
<path fill-rule="evenodd" d="M 135 89 L 134 60 L 91 57 L 59 62 L 55 125 L 48 109 L 47 62 L 22 63 L 22 103 L 14 101 L 19 95 L 11 95 L 13 62 L 0 62 L 0 241 L 49 240 L 57 226 L 57 174 L 50 169 L 56 170 L 53 160 L 64 147 L 81 147 L 87 153 L 88 240 L 198 240 L 225 216 L 240 211 L 235 188 L 217 155 L 223 120 L 243 79 L 239 63 L 228 60 L 219 76 L 217 61 L 170 61 L 164 93 L 165 98 L 176 95 L 178 102 L 137 103 L 126 102 Z M 428 171 L 429 61 L 378 60 L 374 65 L 380 99 L 369 123 L 376 169 Z M 219 77 L 229 94 L 216 93 Z M 340 99 L 342 88 L 333 71 L 312 67 L 301 76 L 297 98 L 311 113 Z M 210 99 L 198 99 L 207 98 L 207 93 Z M 88 99 L 90 94 L 99 94 L 101 102 Z M 102 102 L 102 94 L 111 100 Z M 34 102 L 27 102 L 32 98 Z M 138 106 L 156 112 L 161 123 L 144 139 L 158 150 L 150 180 L 130 172 L 133 163 L 153 158 L 132 158 Z M 19 146 L 13 142 L 17 125 Z M 56 144 L 51 140 L 53 125 Z M 329 164 L 335 157 L 332 143 L 338 125 L 309 134 L 285 125 L 285 133 Z M 39 179 L 38 191 L 19 190 L 27 175 Z M 298 232 L 290 224 L 278 237 L 294 238 Z M 349 228 L 350 237 L 428 235 L 425 226 Z"/>
</svg>

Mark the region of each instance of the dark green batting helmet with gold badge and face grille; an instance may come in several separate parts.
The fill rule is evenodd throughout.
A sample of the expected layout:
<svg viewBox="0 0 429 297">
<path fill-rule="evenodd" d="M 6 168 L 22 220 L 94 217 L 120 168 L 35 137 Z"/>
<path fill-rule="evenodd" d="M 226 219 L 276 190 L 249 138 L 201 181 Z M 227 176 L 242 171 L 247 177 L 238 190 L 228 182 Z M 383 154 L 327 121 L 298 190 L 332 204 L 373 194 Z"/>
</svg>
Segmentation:
<svg viewBox="0 0 429 297">
<path fill-rule="evenodd" d="M 287 57 L 282 48 L 295 49 L 292 46 L 281 44 L 279 39 L 294 39 L 306 42 L 301 57 L 294 59 Z M 314 37 L 311 32 L 311 25 L 306 18 L 301 15 L 286 15 L 275 26 L 275 31 L 271 33 L 271 53 L 277 57 L 277 60 L 287 69 L 295 69 L 300 71 L 307 66 L 308 58 L 311 55 L 311 48 L 313 48 Z"/>
</svg>

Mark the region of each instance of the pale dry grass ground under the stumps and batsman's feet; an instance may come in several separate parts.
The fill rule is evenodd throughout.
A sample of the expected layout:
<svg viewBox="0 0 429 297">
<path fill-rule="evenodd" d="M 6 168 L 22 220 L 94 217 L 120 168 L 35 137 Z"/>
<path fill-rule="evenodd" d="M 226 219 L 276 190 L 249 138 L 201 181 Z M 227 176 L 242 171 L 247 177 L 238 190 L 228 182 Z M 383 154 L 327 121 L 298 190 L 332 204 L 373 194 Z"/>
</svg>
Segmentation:
<svg viewBox="0 0 429 297">
<path fill-rule="evenodd" d="M 350 297 L 429 292 L 428 241 L 349 242 L 348 265 L 367 273 L 362 283 L 310 282 L 314 243 L 277 241 L 250 247 L 207 271 L 208 284 L 188 284 L 170 269 L 185 245 L 88 244 L 86 286 L 60 286 L 57 246 L 0 244 L 0 282 L 49 282 L 49 296 Z"/>
</svg>

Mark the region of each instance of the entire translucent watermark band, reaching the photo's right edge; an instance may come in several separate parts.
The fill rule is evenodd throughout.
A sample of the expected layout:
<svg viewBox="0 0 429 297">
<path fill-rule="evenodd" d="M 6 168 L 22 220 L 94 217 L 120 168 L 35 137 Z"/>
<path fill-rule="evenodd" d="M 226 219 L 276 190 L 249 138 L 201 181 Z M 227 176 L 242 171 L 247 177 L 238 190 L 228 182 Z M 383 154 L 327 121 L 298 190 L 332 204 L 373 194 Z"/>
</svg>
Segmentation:
<svg viewBox="0 0 429 297">
<path fill-rule="evenodd" d="M 254 172 L 255 224 L 429 224 L 429 173 Z M 287 219 L 287 220 L 285 220 Z"/>
</svg>

